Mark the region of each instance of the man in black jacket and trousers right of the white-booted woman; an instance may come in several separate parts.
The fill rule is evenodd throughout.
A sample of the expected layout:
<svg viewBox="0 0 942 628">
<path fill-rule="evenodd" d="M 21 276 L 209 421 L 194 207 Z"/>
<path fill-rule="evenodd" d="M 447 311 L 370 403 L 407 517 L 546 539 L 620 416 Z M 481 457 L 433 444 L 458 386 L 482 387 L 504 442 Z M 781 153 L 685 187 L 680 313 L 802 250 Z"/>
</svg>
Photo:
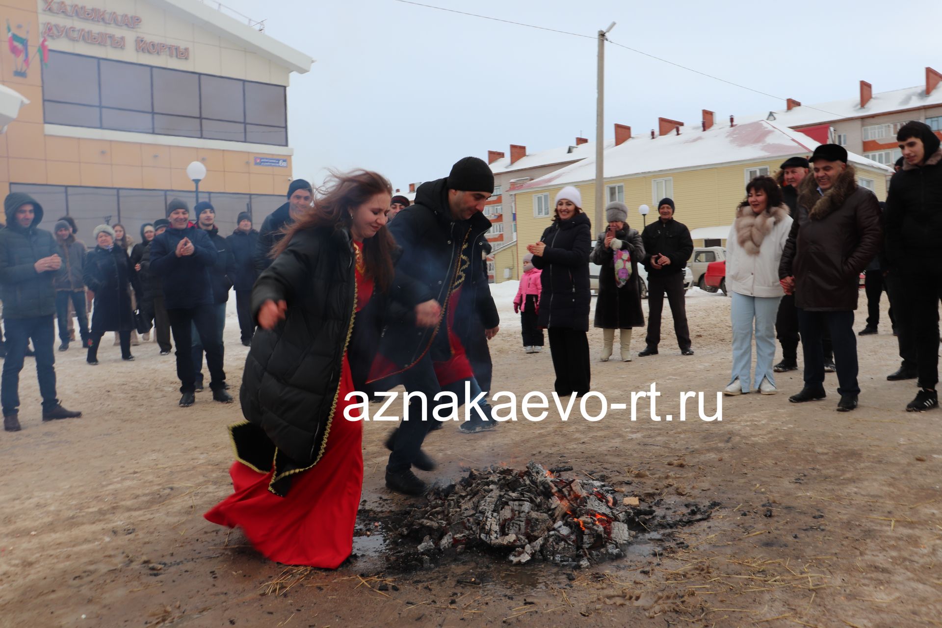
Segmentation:
<svg viewBox="0 0 942 628">
<path fill-rule="evenodd" d="M 684 290 L 684 268 L 693 253 L 693 240 L 687 225 L 674 220 L 674 201 L 663 199 L 658 203 L 657 222 L 642 232 L 644 267 L 648 273 L 648 332 L 647 346 L 639 356 L 656 355 L 660 343 L 660 315 L 664 309 L 664 295 L 671 305 L 674 333 L 682 355 L 693 355 L 690 348 L 690 330 L 687 326 L 687 304 Z"/>
</svg>

